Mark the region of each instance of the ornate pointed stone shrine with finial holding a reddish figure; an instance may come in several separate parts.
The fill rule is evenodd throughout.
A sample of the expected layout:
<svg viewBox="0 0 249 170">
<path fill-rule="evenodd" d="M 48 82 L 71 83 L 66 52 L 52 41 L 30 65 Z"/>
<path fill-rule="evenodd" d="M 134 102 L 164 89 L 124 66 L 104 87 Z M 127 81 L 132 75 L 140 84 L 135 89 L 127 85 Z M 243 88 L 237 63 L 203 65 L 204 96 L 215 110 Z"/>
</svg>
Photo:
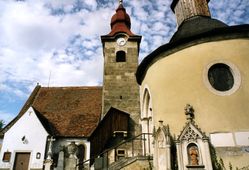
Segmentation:
<svg viewBox="0 0 249 170">
<path fill-rule="evenodd" d="M 191 105 L 185 107 L 186 125 L 176 140 L 179 170 L 212 170 L 209 139 L 194 121 L 195 114 Z"/>
</svg>

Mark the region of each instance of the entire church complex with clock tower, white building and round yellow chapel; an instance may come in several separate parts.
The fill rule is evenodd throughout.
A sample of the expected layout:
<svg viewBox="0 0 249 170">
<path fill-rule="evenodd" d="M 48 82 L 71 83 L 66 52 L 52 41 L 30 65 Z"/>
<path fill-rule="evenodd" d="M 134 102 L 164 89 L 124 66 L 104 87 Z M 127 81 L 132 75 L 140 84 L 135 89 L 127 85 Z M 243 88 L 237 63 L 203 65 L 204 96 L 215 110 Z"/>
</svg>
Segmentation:
<svg viewBox="0 0 249 170">
<path fill-rule="evenodd" d="M 38 84 L 0 132 L 0 170 L 249 169 L 249 25 L 208 3 L 172 0 L 177 31 L 139 64 L 120 1 L 101 36 L 103 85 Z"/>
</svg>

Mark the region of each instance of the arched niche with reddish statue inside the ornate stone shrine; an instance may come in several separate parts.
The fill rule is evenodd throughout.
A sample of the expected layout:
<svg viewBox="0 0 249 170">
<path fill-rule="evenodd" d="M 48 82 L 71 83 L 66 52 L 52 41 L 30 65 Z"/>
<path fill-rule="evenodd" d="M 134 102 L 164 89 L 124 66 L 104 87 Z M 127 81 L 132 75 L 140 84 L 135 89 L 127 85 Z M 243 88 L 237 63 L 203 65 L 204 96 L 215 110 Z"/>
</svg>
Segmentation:
<svg viewBox="0 0 249 170">
<path fill-rule="evenodd" d="M 200 154 L 196 144 L 190 143 L 187 147 L 189 165 L 199 165 Z"/>
</svg>

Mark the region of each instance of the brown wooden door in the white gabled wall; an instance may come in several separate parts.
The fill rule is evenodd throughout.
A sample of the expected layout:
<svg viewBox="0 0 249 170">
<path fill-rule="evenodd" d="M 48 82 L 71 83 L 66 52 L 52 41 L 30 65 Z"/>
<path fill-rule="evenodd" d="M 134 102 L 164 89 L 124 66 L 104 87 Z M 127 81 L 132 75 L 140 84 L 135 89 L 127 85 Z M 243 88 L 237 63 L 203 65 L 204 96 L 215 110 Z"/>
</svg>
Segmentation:
<svg viewBox="0 0 249 170">
<path fill-rule="evenodd" d="M 16 153 L 13 170 L 28 170 L 29 158 L 30 158 L 30 153 Z"/>
</svg>

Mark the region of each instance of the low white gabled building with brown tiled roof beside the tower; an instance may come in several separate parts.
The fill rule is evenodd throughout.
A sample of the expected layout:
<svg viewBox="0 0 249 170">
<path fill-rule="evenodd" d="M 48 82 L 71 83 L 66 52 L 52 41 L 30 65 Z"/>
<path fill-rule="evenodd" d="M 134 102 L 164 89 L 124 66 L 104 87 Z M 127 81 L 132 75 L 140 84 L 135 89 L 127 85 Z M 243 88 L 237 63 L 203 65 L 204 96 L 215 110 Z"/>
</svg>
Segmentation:
<svg viewBox="0 0 249 170">
<path fill-rule="evenodd" d="M 2 131 L 0 169 L 89 167 L 87 139 L 100 119 L 101 92 L 101 87 L 38 85 Z"/>
</svg>

